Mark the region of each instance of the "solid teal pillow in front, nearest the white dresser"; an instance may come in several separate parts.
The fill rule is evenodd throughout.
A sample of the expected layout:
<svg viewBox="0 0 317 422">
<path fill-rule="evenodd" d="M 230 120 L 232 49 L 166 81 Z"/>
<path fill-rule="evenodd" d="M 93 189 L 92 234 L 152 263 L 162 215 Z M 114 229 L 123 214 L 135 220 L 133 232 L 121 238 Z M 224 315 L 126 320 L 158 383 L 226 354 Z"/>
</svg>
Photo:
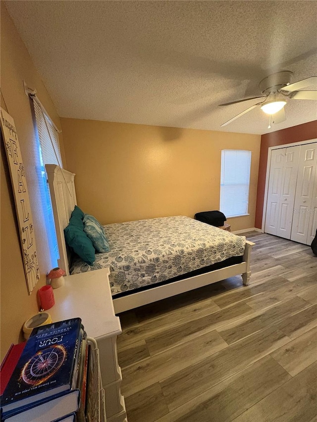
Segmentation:
<svg viewBox="0 0 317 422">
<path fill-rule="evenodd" d="M 72 218 L 70 219 L 72 220 Z M 83 229 L 71 221 L 64 229 L 65 240 L 68 246 L 87 264 L 92 265 L 95 261 L 95 248 L 92 241 Z"/>
</svg>

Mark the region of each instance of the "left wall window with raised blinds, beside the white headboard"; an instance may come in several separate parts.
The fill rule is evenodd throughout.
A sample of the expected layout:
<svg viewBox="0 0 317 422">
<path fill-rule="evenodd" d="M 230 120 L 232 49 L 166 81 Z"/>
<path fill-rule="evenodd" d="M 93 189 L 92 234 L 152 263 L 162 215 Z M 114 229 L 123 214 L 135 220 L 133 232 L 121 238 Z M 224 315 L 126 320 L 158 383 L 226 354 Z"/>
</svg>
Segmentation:
<svg viewBox="0 0 317 422">
<path fill-rule="evenodd" d="M 33 99 L 34 105 L 34 115 L 36 121 L 38 147 L 41 163 L 41 167 L 40 169 L 38 169 L 38 176 L 41 179 L 40 193 L 42 197 L 43 213 L 46 224 L 47 241 L 50 248 L 53 268 L 57 266 L 57 259 L 59 258 L 59 253 L 54 225 L 51 195 L 47 183 L 45 164 L 57 164 L 58 166 L 62 167 L 58 141 L 58 131 L 39 99 L 35 95 L 31 95 L 31 98 Z"/>
</svg>

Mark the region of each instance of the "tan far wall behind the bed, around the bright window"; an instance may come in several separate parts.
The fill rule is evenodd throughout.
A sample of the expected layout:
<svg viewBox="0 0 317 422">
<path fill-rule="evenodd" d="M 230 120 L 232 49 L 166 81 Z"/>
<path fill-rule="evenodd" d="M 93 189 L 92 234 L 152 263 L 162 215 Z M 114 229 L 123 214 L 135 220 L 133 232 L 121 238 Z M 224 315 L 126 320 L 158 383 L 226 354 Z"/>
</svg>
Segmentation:
<svg viewBox="0 0 317 422">
<path fill-rule="evenodd" d="M 260 135 L 67 118 L 61 125 L 78 205 L 103 224 L 219 209 L 221 149 L 248 149 L 250 216 L 229 223 L 254 227 Z"/>
</svg>

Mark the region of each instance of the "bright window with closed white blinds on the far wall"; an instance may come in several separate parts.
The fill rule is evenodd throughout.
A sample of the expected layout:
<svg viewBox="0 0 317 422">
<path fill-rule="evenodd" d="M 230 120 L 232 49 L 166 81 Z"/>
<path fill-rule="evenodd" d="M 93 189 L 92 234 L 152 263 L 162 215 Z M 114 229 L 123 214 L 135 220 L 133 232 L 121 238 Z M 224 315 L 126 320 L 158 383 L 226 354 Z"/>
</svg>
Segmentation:
<svg viewBox="0 0 317 422">
<path fill-rule="evenodd" d="M 222 149 L 220 211 L 226 217 L 248 214 L 251 151 Z"/>
</svg>

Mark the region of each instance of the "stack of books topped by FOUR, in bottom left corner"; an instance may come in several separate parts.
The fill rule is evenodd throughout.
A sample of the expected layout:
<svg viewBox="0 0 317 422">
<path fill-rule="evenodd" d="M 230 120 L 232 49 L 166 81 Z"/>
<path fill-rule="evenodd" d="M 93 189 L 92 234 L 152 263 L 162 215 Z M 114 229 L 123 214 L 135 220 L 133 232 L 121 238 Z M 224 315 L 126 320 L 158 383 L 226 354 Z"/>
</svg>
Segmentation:
<svg viewBox="0 0 317 422">
<path fill-rule="evenodd" d="M 1 422 L 86 421 L 90 353 L 80 318 L 34 328 L 1 364 Z"/>
</svg>

